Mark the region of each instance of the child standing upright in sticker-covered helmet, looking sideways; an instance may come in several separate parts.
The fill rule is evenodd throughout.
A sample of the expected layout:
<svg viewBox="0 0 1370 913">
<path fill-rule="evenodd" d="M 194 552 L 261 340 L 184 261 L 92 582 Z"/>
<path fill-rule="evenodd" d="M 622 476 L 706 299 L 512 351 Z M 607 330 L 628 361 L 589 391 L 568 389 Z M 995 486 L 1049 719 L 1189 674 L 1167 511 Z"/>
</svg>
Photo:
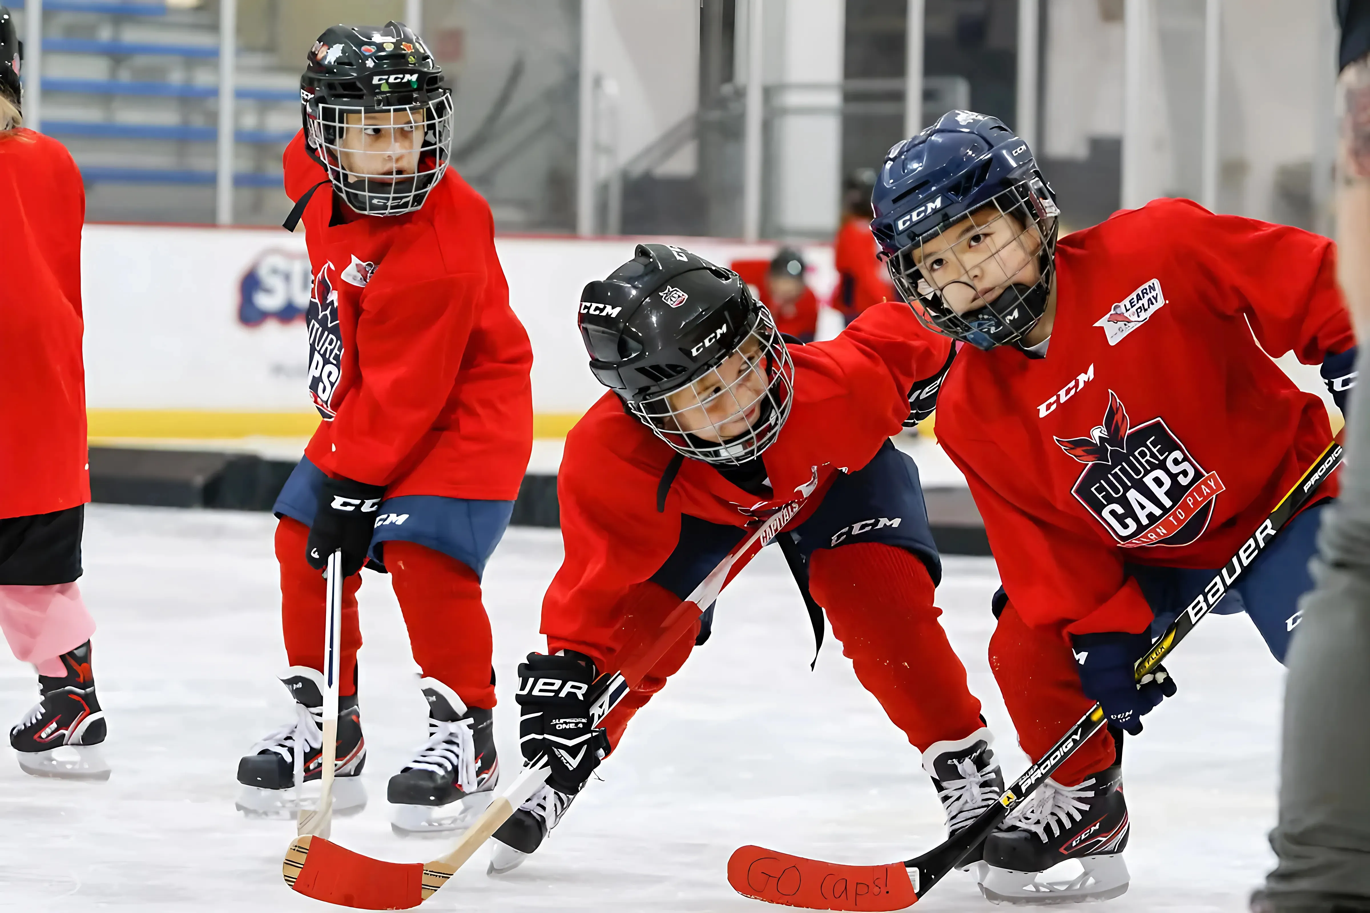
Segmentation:
<svg viewBox="0 0 1370 913">
<path fill-rule="evenodd" d="M 282 682 L 297 720 L 238 765 L 240 808 L 288 810 L 319 777 L 321 569 L 342 549 L 338 810 L 366 797 L 356 697 L 358 571 L 384 563 L 410 630 L 429 739 L 390 777 L 399 831 L 463 827 L 497 775 L 481 572 L 533 438 L 532 350 L 508 307 L 489 207 L 448 168 L 452 99 L 408 27 L 333 26 L 300 81 L 285 151 L 314 292 L 310 393 L 323 422 L 275 504 Z"/>
</svg>

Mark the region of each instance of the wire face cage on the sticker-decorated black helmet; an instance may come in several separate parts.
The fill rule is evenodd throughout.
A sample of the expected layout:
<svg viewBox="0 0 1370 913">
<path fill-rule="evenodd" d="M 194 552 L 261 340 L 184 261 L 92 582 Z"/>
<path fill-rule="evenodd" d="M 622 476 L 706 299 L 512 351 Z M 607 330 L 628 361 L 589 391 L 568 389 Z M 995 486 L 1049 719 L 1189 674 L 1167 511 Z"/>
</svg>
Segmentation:
<svg viewBox="0 0 1370 913">
<path fill-rule="evenodd" d="M 310 145 L 348 205 L 364 215 L 401 215 L 423 205 L 452 155 L 452 96 L 378 108 L 314 101 Z"/>
</svg>

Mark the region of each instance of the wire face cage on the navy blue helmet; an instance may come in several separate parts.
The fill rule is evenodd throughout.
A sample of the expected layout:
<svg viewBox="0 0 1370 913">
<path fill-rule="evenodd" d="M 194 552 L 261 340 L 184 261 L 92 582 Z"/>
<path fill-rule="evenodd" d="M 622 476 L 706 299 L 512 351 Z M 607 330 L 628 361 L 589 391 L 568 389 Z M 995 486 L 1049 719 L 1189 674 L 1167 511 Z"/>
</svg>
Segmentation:
<svg viewBox="0 0 1370 913">
<path fill-rule="evenodd" d="M 929 330 L 981 349 L 1018 342 L 1045 311 L 1059 215 L 1034 177 L 919 235 L 889 275 Z"/>
</svg>

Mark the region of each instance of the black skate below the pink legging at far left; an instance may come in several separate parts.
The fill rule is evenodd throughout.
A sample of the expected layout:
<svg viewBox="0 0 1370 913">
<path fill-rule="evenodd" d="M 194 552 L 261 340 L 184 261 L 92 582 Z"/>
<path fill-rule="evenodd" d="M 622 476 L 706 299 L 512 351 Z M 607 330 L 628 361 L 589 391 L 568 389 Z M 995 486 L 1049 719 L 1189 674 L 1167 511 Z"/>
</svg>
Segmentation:
<svg viewBox="0 0 1370 913">
<path fill-rule="evenodd" d="M 90 641 L 59 658 L 67 673 L 38 676 L 42 698 L 10 730 L 10 745 L 25 773 L 108 780 L 110 765 L 96 747 L 104 742 L 105 727 L 90 672 Z"/>
</svg>

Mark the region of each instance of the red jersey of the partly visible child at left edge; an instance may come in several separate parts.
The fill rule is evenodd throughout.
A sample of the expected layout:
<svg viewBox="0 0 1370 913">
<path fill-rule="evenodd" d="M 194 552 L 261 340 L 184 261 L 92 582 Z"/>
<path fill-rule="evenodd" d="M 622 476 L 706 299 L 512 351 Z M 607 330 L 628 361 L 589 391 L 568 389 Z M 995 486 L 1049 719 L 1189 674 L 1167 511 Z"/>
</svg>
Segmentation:
<svg viewBox="0 0 1370 913">
<path fill-rule="evenodd" d="M 0 138 L 0 517 L 90 500 L 81 357 L 85 189 L 71 155 L 32 130 Z"/>
</svg>

